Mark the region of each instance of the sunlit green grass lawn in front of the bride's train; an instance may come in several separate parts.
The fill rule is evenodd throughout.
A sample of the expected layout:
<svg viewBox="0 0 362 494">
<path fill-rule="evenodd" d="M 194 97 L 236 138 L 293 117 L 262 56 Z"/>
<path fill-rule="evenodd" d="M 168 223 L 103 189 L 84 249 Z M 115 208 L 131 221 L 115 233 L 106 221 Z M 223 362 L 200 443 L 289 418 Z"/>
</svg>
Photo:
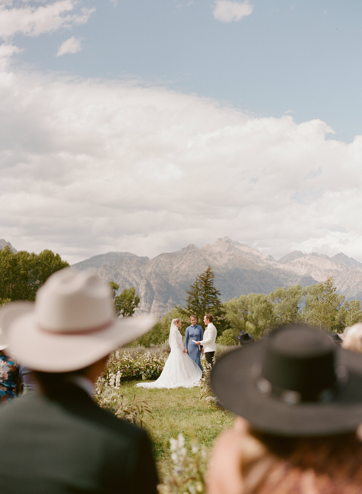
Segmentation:
<svg viewBox="0 0 362 494">
<path fill-rule="evenodd" d="M 167 461 L 168 440 L 176 438 L 182 432 L 188 437 L 194 432 L 200 445 L 210 450 L 214 439 L 224 429 L 234 423 L 230 412 L 209 408 L 206 400 L 200 400 L 200 388 L 191 389 L 145 389 L 137 388 L 141 381 L 121 383 L 120 392 L 128 399 L 136 395 L 136 401 L 146 401 L 152 413 L 144 415 L 144 427 L 148 430 L 154 445 L 155 459 L 162 470 L 163 461 Z M 166 453 L 166 454 L 165 454 Z"/>
</svg>

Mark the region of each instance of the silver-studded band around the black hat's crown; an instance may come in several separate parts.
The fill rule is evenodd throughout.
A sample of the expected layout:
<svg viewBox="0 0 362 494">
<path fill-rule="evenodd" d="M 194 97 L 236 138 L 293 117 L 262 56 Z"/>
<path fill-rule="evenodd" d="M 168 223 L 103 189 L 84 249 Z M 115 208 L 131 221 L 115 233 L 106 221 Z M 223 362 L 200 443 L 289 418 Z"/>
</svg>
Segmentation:
<svg viewBox="0 0 362 494">
<path fill-rule="evenodd" d="M 265 377 L 260 377 L 256 381 L 256 388 L 259 393 L 269 396 L 272 395 L 286 405 L 298 405 L 302 401 L 328 403 L 335 398 L 338 391 L 337 386 L 333 385 L 328 388 L 322 389 L 318 394 L 316 400 L 302 400 L 302 395 L 301 393 L 299 393 L 299 391 L 295 391 L 292 389 L 282 389 L 279 386 L 274 386 L 270 381 L 268 381 L 268 379 L 265 379 Z"/>
</svg>

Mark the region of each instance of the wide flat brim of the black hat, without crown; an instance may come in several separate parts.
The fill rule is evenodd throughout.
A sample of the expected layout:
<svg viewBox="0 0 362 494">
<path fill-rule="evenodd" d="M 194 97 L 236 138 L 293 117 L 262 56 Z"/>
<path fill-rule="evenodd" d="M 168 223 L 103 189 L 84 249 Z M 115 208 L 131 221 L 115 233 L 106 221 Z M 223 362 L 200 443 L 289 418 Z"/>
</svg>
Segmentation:
<svg viewBox="0 0 362 494">
<path fill-rule="evenodd" d="M 264 343 L 256 342 L 216 361 L 211 386 L 225 408 L 270 434 L 324 436 L 356 430 L 362 422 L 362 355 L 336 346 L 337 365 L 347 369 L 348 380 L 333 401 L 287 405 L 256 387 L 263 354 Z"/>
</svg>

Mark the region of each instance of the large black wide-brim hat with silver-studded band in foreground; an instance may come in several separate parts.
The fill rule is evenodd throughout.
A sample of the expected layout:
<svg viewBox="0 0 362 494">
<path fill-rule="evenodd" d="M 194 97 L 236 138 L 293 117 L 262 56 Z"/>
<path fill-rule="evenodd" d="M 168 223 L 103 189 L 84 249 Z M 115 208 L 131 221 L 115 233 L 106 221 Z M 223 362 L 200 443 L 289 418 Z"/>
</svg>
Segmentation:
<svg viewBox="0 0 362 494">
<path fill-rule="evenodd" d="M 362 423 L 362 355 L 308 326 L 281 328 L 227 353 L 215 363 L 211 386 L 225 408 L 260 432 L 325 436 Z"/>
</svg>

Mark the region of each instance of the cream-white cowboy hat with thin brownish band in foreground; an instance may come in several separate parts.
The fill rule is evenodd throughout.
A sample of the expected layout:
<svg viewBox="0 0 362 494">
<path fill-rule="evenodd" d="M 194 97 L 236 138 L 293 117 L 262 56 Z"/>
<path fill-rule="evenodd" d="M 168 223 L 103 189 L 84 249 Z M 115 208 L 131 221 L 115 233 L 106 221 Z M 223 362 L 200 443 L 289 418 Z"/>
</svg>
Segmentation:
<svg viewBox="0 0 362 494">
<path fill-rule="evenodd" d="M 10 351 L 34 371 L 83 369 L 155 324 L 154 316 L 117 318 L 112 292 L 94 270 L 62 269 L 39 288 L 35 302 L 10 302 L 0 325 Z"/>
</svg>

